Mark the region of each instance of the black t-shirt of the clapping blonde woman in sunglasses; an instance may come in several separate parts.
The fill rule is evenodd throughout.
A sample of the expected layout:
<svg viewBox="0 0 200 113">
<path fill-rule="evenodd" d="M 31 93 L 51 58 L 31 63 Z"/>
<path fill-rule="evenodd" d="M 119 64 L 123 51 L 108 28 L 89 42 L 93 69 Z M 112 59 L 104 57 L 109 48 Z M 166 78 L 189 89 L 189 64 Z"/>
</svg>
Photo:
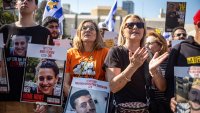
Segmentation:
<svg viewBox="0 0 200 113">
<path fill-rule="evenodd" d="M 109 50 L 103 68 L 125 68 L 129 65 L 128 50 L 123 47 L 113 47 Z M 146 102 L 144 65 L 134 73 L 131 82 L 114 94 L 117 103 Z"/>
</svg>

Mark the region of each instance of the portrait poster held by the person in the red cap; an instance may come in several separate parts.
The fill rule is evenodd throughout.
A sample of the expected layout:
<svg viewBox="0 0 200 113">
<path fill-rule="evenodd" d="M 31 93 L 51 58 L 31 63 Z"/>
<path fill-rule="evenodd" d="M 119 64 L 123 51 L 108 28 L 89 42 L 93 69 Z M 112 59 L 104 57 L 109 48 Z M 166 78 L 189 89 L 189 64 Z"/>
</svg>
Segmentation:
<svg viewBox="0 0 200 113">
<path fill-rule="evenodd" d="M 194 59 L 188 59 L 194 62 Z M 174 67 L 178 113 L 193 113 L 200 109 L 200 66 Z"/>
</svg>

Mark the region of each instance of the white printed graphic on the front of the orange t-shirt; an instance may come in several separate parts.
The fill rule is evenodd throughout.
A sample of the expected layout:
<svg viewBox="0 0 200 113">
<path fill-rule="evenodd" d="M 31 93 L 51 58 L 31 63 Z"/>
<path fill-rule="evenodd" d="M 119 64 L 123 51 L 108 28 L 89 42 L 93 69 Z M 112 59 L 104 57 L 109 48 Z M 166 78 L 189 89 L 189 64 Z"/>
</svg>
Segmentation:
<svg viewBox="0 0 200 113">
<path fill-rule="evenodd" d="M 77 75 L 95 75 L 94 62 L 82 61 L 73 68 L 74 74 Z"/>
</svg>

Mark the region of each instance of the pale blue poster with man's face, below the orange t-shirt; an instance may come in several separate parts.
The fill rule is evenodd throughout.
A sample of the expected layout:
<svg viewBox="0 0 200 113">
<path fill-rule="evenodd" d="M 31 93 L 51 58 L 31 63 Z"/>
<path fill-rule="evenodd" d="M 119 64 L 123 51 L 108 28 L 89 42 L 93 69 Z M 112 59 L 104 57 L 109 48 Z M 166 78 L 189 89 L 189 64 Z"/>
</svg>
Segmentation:
<svg viewBox="0 0 200 113">
<path fill-rule="evenodd" d="M 64 113 L 107 113 L 109 96 L 108 82 L 73 77 Z"/>
</svg>

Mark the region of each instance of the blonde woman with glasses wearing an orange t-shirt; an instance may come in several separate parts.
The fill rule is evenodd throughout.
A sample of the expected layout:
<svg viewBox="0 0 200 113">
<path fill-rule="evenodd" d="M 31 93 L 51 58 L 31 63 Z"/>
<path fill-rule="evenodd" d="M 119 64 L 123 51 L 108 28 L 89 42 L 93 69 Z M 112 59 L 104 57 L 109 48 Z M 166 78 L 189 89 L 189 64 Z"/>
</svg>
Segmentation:
<svg viewBox="0 0 200 113">
<path fill-rule="evenodd" d="M 73 77 L 105 80 L 102 65 L 107 52 L 97 24 L 92 20 L 82 21 L 73 39 L 73 48 L 67 51 L 64 82 L 66 96 Z"/>
</svg>

